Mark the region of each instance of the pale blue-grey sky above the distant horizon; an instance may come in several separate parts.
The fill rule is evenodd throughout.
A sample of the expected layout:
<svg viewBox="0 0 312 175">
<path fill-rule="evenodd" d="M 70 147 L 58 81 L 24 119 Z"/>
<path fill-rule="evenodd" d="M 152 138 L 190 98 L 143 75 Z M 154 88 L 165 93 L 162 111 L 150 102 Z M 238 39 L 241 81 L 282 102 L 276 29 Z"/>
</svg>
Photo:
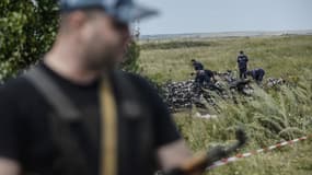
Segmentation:
<svg viewBox="0 0 312 175">
<path fill-rule="evenodd" d="M 137 0 L 160 14 L 141 35 L 312 30 L 312 0 Z"/>
</svg>

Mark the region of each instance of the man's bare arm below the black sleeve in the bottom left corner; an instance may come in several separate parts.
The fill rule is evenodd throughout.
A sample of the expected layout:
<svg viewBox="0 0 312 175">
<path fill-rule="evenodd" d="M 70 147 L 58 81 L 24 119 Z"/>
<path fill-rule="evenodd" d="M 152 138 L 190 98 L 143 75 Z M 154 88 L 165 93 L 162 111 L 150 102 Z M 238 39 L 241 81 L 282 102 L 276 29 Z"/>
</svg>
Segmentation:
<svg viewBox="0 0 312 175">
<path fill-rule="evenodd" d="M 0 175 L 20 175 L 20 172 L 18 162 L 0 158 Z"/>
</svg>

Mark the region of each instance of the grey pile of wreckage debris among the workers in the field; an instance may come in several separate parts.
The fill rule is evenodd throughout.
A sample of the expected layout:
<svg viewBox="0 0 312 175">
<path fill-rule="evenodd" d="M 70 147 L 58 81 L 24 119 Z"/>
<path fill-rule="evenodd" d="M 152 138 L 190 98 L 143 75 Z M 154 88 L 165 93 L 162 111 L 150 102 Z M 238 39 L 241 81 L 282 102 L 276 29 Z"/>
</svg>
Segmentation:
<svg viewBox="0 0 312 175">
<path fill-rule="evenodd" d="M 224 91 L 223 93 L 218 93 L 215 91 L 215 94 L 220 95 L 222 98 L 229 98 L 234 94 L 233 91 L 240 92 L 244 95 L 249 95 L 253 92 L 250 85 L 252 81 L 250 80 L 238 80 L 233 78 L 229 72 L 219 73 L 218 78 L 219 81 L 216 82 L 215 85 L 223 89 Z M 286 82 L 282 79 L 268 78 L 264 81 L 263 86 L 274 88 L 285 83 Z M 222 86 L 221 84 L 226 84 L 226 86 Z M 211 95 L 213 90 L 209 90 L 207 86 L 207 89 L 205 88 L 205 91 L 203 91 L 200 88 L 198 88 L 198 85 L 196 85 L 194 80 L 167 82 L 161 86 L 161 91 L 162 96 L 171 112 L 175 112 L 176 109 L 190 108 L 193 105 L 203 107 L 205 106 L 203 104 L 203 101 L 206 101 L 205 103 L 211 106 L 216 105 L 213 95 Z"/>
</svg>

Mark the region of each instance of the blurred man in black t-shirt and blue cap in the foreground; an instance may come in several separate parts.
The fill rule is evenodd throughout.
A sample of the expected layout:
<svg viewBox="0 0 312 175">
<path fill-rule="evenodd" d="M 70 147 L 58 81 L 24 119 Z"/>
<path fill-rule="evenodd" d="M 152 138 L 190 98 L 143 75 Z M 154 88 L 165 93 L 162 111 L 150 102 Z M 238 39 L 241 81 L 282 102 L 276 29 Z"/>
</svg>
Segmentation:
<svg viewBox="0 0 312 175">
<path fill-rule="evenodd" d="M 0 88 L 0 175 L 152 175 L 192 154 L 149 83 L 116 70 L 131 0 L 61 0 L 43 63 Z"/>
</svg>

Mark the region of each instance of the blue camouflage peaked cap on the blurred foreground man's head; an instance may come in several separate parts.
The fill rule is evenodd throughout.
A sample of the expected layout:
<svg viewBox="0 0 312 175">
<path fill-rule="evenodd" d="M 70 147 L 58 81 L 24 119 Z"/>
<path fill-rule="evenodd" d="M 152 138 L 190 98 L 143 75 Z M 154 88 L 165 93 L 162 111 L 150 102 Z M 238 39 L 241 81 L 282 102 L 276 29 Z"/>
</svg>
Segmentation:
<svg viewBox="0 0 312 175">
<path fill-rule="evenodd" d="M 60 0 L 60 11 L 100 8 L 108 15 L 125 23 L 158 14 L 157 10 L 139 5 L 132 0 Z"/>
</svg>

